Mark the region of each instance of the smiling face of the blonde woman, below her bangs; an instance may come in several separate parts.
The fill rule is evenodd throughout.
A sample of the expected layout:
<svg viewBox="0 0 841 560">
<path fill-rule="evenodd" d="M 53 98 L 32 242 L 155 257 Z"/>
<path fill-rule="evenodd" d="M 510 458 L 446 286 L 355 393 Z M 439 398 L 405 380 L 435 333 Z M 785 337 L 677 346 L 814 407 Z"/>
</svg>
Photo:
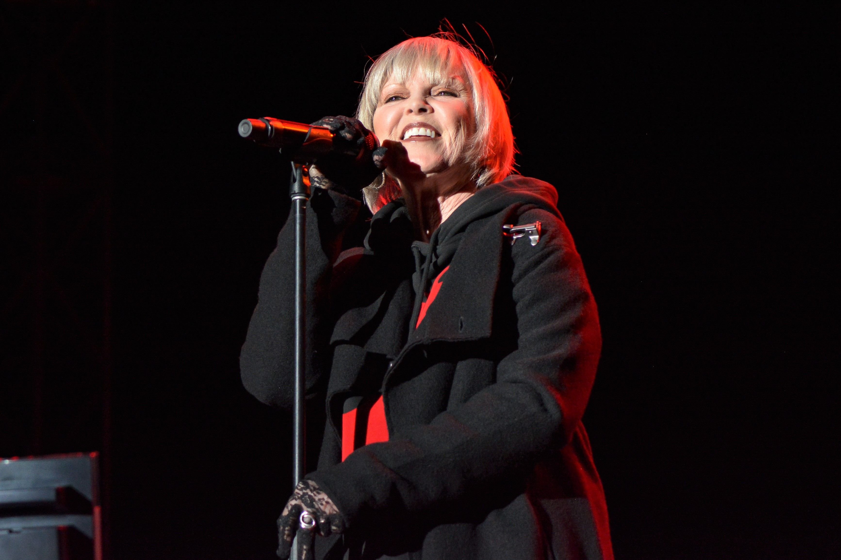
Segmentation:
<svg viewBox="0 0 841 560">
<path fill-rule="evenodd" d="M 386 81 L 373 113 L 373 132 L 380 141 L 403 144 L 410 162 L 389 166 L 392 175 L 440 174 L 455 164 L 454 152 L 473 133 L 471 105 L 463 76 L 433 84 L 415 72 L 407 83 Z"/>
</svg>

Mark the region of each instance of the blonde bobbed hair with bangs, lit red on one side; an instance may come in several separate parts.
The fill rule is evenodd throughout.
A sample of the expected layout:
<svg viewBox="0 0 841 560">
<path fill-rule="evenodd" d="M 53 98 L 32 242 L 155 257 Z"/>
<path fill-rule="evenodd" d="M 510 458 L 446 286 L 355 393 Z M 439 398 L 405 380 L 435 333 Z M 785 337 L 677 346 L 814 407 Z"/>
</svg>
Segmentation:
<svg viewBox="0 0 841 560">
<path fill-rule="evenodd" d="M 471 50 L 447 38 L 447 34 L 439 35 L 406 39 L 379 56 L 365 76 L 357 118 L 373 130 L 373 113 L 380 93 L 391 79 L 406 83 L 420 71 L 430 83 L 447 85 L 453 72 L 458 71 L 468 81 L 474 130 L 472 135 L 464 130 L 457 134 L 454 145 L 449 146 L 453 152 L 450 160 L 467 165 L 467 180 L 475 181 L 479 189 L 514 172 L 514 134 L 508 108 L 493 71 Z M 397 181 L 387 173 L 380 175 L 363 193 L 373 212 L 402 196 Z"/>
</svg>

